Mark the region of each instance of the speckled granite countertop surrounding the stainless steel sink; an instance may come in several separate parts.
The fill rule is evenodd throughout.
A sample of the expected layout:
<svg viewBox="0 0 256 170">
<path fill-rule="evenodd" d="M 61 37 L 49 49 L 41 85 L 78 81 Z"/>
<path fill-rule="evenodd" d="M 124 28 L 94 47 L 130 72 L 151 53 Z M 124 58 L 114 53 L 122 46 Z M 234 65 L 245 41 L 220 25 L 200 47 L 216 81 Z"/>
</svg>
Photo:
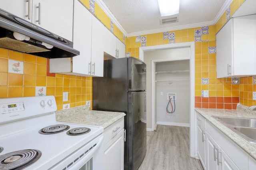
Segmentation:
<svg viewBox="0 0 256 170">
<path fill-rule="evenodd" d="M 256 159 L 256 144 L 252 144 L 230 130 L 228 127 L 218 122 L 216 119 L 211 117 L 214 116 L 229 116 L 229 117 L 245 117 L 245 118 L 256 118 L 256 111 L 247 110 L 248 107 L 238 105 L 237 110 L 230 109 L 205 109 L 196 108 L 195 110 L 200 113 L 206 120 L 216 126 L 220 131 L 226 134 L 231 140 L 233 140 L 238 146 L 245 150 L 250 156 Z"/>
</svg>

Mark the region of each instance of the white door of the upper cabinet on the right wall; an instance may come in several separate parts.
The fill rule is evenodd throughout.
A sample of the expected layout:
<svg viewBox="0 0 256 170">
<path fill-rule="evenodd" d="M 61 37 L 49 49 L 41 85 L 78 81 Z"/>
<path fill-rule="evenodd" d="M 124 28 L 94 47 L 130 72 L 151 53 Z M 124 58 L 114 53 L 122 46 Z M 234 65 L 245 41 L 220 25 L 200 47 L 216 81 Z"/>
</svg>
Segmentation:
<svg viewBox="0 0 256 170">
<path fill-rule="evenodd" d="M 233 18 L 216 34 L 217 78 L 232 75 Z"/>
</svg>

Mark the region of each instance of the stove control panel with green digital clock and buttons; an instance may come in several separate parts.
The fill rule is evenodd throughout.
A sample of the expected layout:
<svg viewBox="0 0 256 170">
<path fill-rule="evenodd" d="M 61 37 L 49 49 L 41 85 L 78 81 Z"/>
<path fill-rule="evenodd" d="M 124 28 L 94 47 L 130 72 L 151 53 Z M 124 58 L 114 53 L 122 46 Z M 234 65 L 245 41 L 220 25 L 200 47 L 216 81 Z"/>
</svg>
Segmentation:
<svg viewBox="0 0 256 170">
<path fill-rule="evenodd" d="M 13 112 L 19 112 L 24 110 L 25 108 L 24 108 L 23 102 L 0 104 L 0 114 L 13 113 Z"/>
</svg>

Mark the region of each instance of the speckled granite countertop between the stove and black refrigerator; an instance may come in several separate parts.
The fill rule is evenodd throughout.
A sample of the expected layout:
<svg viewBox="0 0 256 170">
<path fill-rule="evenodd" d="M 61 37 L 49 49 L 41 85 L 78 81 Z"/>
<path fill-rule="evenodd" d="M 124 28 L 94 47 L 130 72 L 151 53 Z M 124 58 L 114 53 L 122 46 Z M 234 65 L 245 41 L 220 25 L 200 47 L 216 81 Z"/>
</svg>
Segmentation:
<svg viewBox="0 0 256 170">
<path fill-rule="evenodd" d="M 125 116 L 122 112 L 92 111 L 87 105 L 56 111 L 56 121 L 108 127 Z"/>
</svg>

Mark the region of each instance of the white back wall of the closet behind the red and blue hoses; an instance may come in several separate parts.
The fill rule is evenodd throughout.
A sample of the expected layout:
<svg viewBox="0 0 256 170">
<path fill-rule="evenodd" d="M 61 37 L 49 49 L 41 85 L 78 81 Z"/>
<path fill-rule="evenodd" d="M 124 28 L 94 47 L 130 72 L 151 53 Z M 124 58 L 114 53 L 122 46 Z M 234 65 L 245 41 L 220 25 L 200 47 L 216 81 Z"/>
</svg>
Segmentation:
<svg viewBox="0 0 256 170">
<path fill-rule="evenodd" d="M 181 71 L 190 70 L 189 60 L 165 61 L 156 63 L 156 71 Z M 156 82 L 156 121 L 158 125 L 190 125 L 190 73 L 157 73 L 156 80 L 178 79 L 181 81 Z M 175 111 L 167 113 L 166 106 L 169 103 L 167 93 L 176 93 Z M 162 93 L 162 95 L 161 95 Z M 173 108 L 174 101 L 171 100 Z M 169 111 L 172 107 L 169 104 Z"/>
</svg>

